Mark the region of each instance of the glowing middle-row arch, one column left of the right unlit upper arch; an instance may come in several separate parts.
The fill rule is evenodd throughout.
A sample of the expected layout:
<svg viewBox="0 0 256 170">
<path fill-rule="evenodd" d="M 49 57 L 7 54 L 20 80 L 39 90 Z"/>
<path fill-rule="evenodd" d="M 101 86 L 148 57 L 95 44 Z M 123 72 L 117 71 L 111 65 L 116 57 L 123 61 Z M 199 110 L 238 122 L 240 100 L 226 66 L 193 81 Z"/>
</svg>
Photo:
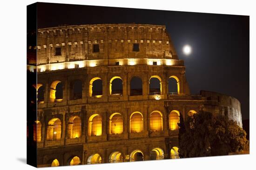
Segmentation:
<svg viewBox="0 0 256 170">
<path fill-rule="evenodd" d="M 109 133 L 121 134 L 123 132 L 123 119 L 120 113 L 113 113 L 109 117 Z"/>
</svg>

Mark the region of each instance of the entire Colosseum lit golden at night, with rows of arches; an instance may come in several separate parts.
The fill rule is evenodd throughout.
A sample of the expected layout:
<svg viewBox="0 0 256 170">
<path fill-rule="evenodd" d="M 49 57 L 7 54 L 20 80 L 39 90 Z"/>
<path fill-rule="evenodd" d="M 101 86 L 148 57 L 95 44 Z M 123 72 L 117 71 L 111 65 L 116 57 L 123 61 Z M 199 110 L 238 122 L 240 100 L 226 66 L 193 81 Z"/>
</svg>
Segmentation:
<svg viewBox="0 0 256 170">
<path fill-rule="evenodd" d="M 38 167 L 179 158 L 179 115 L 200 110 L 242 127 L 236 98 L 190 94 L 184 61 L 163 25 L 70 25 L 32 34 L 27 74 L 37 76 L 29 82 L 37 95 L 29 101 L 35 115 L 27 138 Z"/>
</svg>

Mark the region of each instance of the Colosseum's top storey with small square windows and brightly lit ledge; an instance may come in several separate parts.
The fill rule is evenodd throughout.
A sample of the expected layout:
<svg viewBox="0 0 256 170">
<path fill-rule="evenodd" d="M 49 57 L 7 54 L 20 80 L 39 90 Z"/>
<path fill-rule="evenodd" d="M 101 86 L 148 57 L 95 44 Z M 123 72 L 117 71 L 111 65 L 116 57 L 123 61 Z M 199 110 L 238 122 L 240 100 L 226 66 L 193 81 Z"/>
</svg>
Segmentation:
<svg viewBox="0 0 256 170">
<path fill-rule="evenodd" d="M 38 65 L 39 72 L 111 65 L 184 65 L 163 25 L 99 24 L 38 29 L 37 44 L 28 46 L 28 53 L 36 51 L 37 60 L 28 55 L 28 69 L 33 71 Z"/>
</svg>

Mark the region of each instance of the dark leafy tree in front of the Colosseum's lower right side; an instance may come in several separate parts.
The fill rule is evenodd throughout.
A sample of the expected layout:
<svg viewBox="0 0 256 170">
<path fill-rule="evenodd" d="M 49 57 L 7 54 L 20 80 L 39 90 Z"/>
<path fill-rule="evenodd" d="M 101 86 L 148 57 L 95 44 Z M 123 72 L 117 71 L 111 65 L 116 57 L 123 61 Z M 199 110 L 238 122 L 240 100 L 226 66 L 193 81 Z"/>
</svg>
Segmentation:
<svg viewBox="0 0 256 170">
<path fill-rule="evenodd" d="M 183 120 L 183 119 L 182 119 Z M 228 155 L 244 150 L 248 144 L 246 132 L 225 116 L 213 116 L 200 111 L 179 124 L 181 157 Z"/>
</svg>

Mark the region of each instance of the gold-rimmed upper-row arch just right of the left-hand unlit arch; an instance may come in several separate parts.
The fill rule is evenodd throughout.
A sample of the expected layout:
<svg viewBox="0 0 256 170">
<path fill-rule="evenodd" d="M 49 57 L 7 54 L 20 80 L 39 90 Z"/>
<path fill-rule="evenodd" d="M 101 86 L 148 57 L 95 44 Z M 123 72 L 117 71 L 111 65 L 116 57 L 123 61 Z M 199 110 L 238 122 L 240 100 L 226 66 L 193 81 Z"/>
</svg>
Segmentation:
<svg viewBox="0 0 256 170">
<path fill-rule="evenodd" d="M 101 97 L 102 96 L 102 80 L 100 77 L 94 77 L 89 83 L 89 96 Z"/>
</svg>

